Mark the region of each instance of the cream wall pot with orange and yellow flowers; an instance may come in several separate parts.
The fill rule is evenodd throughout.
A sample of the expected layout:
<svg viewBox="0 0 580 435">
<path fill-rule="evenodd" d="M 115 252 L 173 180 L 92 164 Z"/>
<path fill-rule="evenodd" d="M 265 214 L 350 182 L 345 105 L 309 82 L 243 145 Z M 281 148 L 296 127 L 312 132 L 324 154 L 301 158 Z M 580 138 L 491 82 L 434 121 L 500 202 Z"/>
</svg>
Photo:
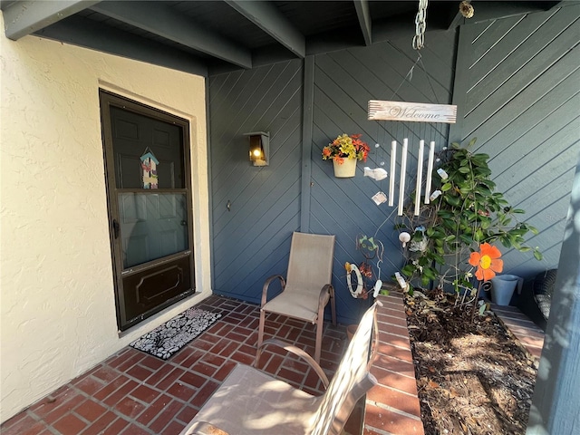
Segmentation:
<svg viewBox="0 0 580 435">
<path fill-rule="evenodd" d="M 334 177 L 354 177 L 357 160 L 366 161 L 370 149 L 360 137 L 360 134 L 343 133 L 323 148 L 323 160 L 333 160 Z"/>
</svg>

